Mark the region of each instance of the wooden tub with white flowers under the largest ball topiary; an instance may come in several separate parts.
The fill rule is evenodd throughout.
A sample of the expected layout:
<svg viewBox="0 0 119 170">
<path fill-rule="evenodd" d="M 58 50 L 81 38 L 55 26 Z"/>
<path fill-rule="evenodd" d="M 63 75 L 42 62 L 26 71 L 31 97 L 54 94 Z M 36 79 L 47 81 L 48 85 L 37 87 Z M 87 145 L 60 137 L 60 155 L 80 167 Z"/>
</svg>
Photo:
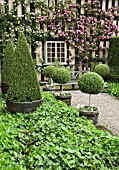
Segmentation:
<svg viewBox="0 0 119 170">
<path fill-rule="evenodd" d="M 96 125 L 98 123 L 98 115 L 99 115 L 99 110 L 88 110 L 88 106 L 85 106 L 84 109 L 79 111 L 79 116 L 86 116 L 87 119 L 92 120 L 93 124 Z M 96 108 L 96 107 L 95 107 Z"/>
</svg>

